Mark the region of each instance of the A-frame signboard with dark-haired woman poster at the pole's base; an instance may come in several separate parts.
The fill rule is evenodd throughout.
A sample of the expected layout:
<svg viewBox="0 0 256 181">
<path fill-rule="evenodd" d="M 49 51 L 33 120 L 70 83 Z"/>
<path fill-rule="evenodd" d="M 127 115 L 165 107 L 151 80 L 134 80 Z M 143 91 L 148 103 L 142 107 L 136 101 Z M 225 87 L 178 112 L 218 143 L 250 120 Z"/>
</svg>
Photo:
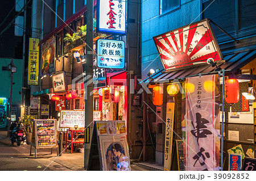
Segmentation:
<svg viewBox="0 0 256 181">
<path fill-rule="evenodd" d="M 98 156 L 98 160 L 93 159 Z M 88 170 L 130 171 L 125 121 L 94 121 Z"/>
</svg>

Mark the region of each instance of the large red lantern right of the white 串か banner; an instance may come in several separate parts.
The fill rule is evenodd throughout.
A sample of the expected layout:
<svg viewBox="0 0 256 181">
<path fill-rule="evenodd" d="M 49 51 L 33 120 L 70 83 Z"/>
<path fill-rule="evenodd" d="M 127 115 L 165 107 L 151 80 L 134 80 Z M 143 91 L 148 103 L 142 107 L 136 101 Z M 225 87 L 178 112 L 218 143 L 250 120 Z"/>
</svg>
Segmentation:
<svg viewBox="0 0 256 181">
<path fill-rule="evenodd" d="M 227 79 L 225 81 L 225 98 L 229 104 L 239 101 L 239 82 L 237 79 Z"/>
</svg>

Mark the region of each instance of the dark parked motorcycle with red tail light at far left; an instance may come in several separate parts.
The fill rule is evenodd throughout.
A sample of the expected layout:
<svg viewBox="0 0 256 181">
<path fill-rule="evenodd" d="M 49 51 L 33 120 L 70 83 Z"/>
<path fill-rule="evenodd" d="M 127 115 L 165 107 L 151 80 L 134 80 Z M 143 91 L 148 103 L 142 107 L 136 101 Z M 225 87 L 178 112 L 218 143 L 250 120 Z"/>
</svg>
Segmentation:
<svg viewBox="0 0 256 181">
<path fill-rule="evenodd" d="M 22 141 L 25 141 L 27 139 L 24 134 L 24 128 L 20 124 L 18 124 L 18 122 L 14 121 L 14 123 L 12 123 L 10 127 L 11 144 L 13 145 L 14 142 L 16 142 L 19 146 Z"/>
</svg>

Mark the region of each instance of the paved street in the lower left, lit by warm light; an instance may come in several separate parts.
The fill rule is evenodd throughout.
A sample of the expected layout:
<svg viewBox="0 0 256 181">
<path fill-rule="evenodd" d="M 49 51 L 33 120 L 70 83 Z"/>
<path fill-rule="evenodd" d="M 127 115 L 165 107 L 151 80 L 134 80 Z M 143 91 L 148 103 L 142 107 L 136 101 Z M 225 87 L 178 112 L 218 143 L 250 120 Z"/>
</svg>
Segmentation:
<svg viewBox="0 0 256 181">
<path fill-rule="evenodd" d="M 0 131 L 0 170 L 85 170 L 84 154 L 70 153 L 70 150 L 63 152 L 61 157 L 56 156 L 56 149 L 53 154 L 50 149 L 39 149 L 38 158 L 30 156 L 30 145 L 21 144 L 20 146 L 11 145 L 11 141 L 6 137 L 6 131 Z M 32 148 L 34 154 L 34 148 Z M 132 170 L 144 170 L 137 165 L 132 165 Z"/>
</svg>

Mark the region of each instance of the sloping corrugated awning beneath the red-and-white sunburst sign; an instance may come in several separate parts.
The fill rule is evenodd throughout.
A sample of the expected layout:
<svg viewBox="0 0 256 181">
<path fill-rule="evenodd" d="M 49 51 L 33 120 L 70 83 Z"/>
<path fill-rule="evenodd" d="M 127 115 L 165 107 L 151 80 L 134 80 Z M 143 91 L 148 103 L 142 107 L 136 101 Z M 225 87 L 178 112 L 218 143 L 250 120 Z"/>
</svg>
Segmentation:
<svg viewBox="0 0 256 181">
<path fill-rule="evenodd" d="M 243 66 L 248 64 L 250 61 L 256 58 L 256 48 L 253 50 L 240 50 L 237 49 L 236 52 L 234 50 L 228 50 L 222 52 L 223 59 L 225 62 L 217 64 L 222 69 L 225 69 L 225 72 L 229 74 L 234 74 L 237 70 L 241 69 Z M 212 66 L 205 64 L 204 66 L 197 66 L 195 68 L 190 69 L 182 69 L 175 71 L 164 71 L 164 69 L 159 70 L 155 74 L 152 74 L 150 77 L 144 79 L 140 83 L 147 83 L 164 79 L 169 79 L 170 81 L 173 79 L 192 77 L 193 75 L 199 74 L 207 74 L 215 71 L 215 68 Z"/>
</svg>

